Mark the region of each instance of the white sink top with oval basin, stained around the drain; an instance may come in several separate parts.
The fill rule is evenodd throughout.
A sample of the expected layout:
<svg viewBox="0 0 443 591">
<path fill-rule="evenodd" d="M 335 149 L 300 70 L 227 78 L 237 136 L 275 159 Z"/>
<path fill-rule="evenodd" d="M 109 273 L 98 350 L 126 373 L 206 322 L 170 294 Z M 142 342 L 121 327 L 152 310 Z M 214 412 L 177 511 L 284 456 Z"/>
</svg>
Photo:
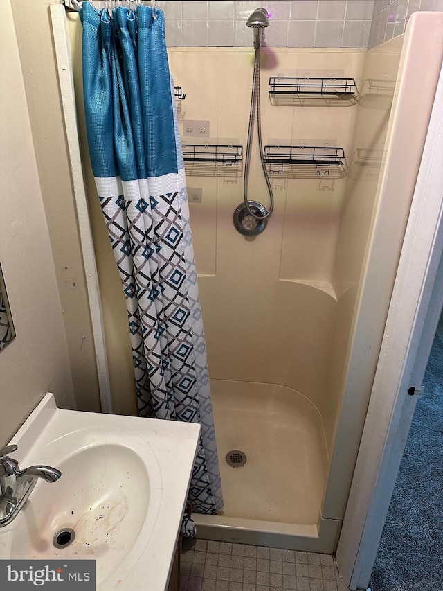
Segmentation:
<svg viewBox="0 0 443 591">
<path fill-rule="evenodd" d="M 164 590 L 197 450 L 199 425 L 57 409 L 46 394 L 10 443 L 39 481 L 0 528 L 0 559 L 94 559 L 98 591 Z M 75 533 L 66 547 L 54 536 Z"/>
</svg>

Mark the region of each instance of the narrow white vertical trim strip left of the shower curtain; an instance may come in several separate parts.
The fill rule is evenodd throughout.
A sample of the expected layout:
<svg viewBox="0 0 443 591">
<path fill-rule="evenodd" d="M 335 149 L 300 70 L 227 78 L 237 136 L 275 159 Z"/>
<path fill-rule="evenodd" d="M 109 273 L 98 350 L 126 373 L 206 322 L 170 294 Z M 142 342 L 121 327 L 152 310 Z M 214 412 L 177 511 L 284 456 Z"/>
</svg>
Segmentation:
<svg viewBox="0 0 443 591">
<path fill-rule="evenodd" d="M 109 386 L 105 333 L 102 323 L 96 258 L 93 249 L 87 195 L 84 188 L 82 160 L 80 157 L 80 145 L 78 141 L 75 94 L 71 67 L 71 50 L 66 28 L 66 13 L 64 6 L 61 4 L 51 4 L 50 8 L 55 57 L 60 82 L 60 96 L 62 97 L 64 126 L 66 129 L 66 143 L 68 146 L 71 179 L 75 195 L 75 206 L 77 209 L 80 242 L 82 244 L 82 256 L 88 290 L 89 310 L 91 311 L 94 346 L 96 349 L 98 388 L 100 391 L 102 412 L 110 413 L 112 412 L 112 402 L 111 389 Z"/>
</svg>

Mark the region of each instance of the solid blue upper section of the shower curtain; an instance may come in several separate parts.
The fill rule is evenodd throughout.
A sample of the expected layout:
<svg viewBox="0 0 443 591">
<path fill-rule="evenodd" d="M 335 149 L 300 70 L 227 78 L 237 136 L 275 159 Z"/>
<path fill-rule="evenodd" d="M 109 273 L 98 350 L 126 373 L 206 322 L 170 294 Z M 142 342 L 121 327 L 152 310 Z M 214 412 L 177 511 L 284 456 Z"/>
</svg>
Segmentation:
<svg viewBox="0 0 443 591">
<path fill-rule="evenodd" d="M 129 181 L 177 173 L 163 12 L 154 18 L 148 6 L 136 14 L 120 6 L 111 19 L 84 2 L 81 16 L 84 94 L 94 97 L 86 110 L 94 175 Z"/>
</svg>

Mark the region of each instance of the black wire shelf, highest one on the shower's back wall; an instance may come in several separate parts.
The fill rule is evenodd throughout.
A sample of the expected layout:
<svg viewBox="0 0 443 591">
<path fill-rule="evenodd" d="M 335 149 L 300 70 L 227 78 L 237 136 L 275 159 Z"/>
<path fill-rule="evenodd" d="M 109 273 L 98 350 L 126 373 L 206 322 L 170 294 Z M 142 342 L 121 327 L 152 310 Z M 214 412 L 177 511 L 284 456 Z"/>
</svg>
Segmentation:
<svg viewBox="0 0 443 591">
<path fill-rule="evenodd" d="M 269 96 L 275 105 L 349 107 L 357 102 L 354 78 L 271 76 Z"/>
</svg>

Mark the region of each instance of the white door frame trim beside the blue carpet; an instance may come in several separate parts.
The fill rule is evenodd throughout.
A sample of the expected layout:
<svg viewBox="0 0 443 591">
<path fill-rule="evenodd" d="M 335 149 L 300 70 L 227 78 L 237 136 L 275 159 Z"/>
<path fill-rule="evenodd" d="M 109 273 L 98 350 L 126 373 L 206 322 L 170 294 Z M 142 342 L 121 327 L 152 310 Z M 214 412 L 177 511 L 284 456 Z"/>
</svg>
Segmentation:
<svg viewBox="0 0 443 591">
<path fill-rule="evenodd" d="M 442 71 L 443 72 L 443 71 Z M 443 304 L 443 73 L 410 209 L 336 561 L 366 588 Z"/>
</svg>

